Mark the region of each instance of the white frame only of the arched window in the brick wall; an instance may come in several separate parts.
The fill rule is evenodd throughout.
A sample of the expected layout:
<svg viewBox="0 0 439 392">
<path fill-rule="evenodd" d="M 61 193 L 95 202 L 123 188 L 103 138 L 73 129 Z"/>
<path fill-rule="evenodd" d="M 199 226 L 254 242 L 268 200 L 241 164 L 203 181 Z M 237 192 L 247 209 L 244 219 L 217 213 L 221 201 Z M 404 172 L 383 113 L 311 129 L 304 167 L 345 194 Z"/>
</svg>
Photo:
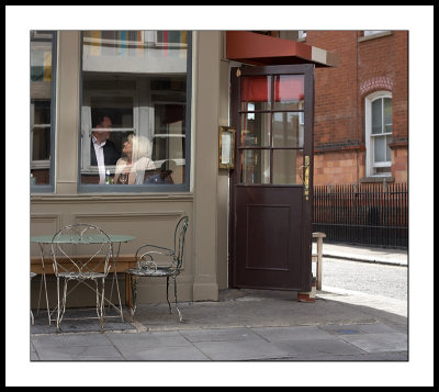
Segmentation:
<svg viewBox="0 0 439 392">
<path fill-rule="evenodd" d="M 374 161 L 374 148 L 373 138 L 376 136 L 390 136 L 392 133 L 383 133 L 380 135 L 372 135 L 372 102 L 378 99 L 393 98 L 390 91 L 375 91 L 370 96 L 365 97 L 364 104 L 364 120 L 365 120 L 365 176 L 367 177 L 391 177 L 391 172 L 375 173 L 374 169 L 380 167 L 392 167 L 392 161 L 375 163 Z"/>
</svg>

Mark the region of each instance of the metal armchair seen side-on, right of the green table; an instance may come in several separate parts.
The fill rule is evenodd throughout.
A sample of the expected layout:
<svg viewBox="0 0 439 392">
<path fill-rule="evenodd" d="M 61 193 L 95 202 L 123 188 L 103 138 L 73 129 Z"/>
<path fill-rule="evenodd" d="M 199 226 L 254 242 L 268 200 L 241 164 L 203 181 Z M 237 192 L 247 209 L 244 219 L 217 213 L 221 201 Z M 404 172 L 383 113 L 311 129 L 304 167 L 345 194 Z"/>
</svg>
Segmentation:
<svg viewBox="0 0 439 392">
<path fill-rule="evenodd" d="M 130 276 L 130 284 L 132 289 L 132 306 L 131 316 L 134 320 L 134 313 L 137 307 L 137 280 L 140 277 L 164 278 L 166 277 L 166 300 L 168 301 L 169 313 L 172 313 L 169 302 L 169 278 L 173 280 L 173 294 L 176 299 L 176 309 L 179 314 L 180 322 L 183 316 L 178 307 L 177 301 L 177 280 L 176 277 L 180 273 L 181 264 L 183 260 L 184 235 L 188 229 L 188 216 L 183 216 L 177 223 L 173 233 L 173 249 L 157 246 L 142 245 L 136 250 L 137 267 L 125 270 Z"/>
</svg>

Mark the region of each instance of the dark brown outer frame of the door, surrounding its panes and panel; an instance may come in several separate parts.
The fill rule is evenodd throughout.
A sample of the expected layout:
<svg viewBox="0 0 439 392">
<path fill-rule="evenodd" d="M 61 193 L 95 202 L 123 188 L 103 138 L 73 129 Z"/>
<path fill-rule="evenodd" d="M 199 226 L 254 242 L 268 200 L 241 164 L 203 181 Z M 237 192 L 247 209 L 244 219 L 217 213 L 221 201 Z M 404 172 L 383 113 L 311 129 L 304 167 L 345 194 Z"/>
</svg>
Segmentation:
<svg viewBox="0 0 439 392">
<path fill-rule="evenodd" d="M 303 236 L 302 244 L 302 287 L 300 291 L 311 291 L 312 285 L 312 219 L 313 219 L 313 172 L 314 172 L 314 69 L 313 64 L 301 65 L 270 65 L 270 66 L 241 66 L 230 68 L 230 126 L 236 130 L 236 139 L 240 137 L 240 116 L 239 116 L 239 98 L 240 91 L 238 78 L 240 76 L 257 76 L 257 75 L 292 75 L 300 74 L 305 76 L 304 86 L 304 148 L 303 159 L 309 156 L 309 182 L 308 182 L 308 200 L 305 200 L 302 192 L 303 216 L 302 231 L 308 233 Z M 235 143 L 235 169 L 229 173 L 229 219 L 228 219 L 228 287 L 236 287 L 236 192 L 235 187 L 239 180 L 239 159 L 238 143 Z M 303 161 L 303 165 L 305 163 Z M 248 186 L 255 187 L 255 186 Z M 258 184 L 257 187 L 281 187 L 275 184 Z M 303 187 L 303 184 L 302 184 Z M 305 244 L 307 243 L 307 244 Z"/>
</svg>

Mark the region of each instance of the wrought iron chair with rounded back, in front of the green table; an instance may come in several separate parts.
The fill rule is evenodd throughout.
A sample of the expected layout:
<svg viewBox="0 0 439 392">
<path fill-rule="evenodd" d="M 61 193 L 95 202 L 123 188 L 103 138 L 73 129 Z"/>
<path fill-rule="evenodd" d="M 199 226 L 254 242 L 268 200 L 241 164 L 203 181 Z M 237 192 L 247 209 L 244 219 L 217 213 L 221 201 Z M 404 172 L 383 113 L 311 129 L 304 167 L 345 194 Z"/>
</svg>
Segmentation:
<svg viewBox="0 0 439 392">
<path fill-rule="evenodd" d="M 81 249 L 77 249 L 81 247 Z M 70 256 L 74 250 L 87 250 L 87 255 Z M 101 333 L 103 333 L 104 318 L 104 292 L 105 278 L 110 271 L 110 260 L 113 256 L 113 245 L 110 237 L 100 227 L 79 223 L 68 225 L 56 233 L 52 240 L 52 258 L 54 272 L 57 282 L 57 317 L 56 329 L 60 332 L 60 323 L 66 312 L 67 294 L 70 293 L 80 282 L 85 282 L 97 294 L 97 315 L 100 322 Z M 60 299 L 59 280 L 64 280 L 63 298 Z M 77 281 L 77 284 L 67 292 L 67 283 Z M 88 284 L 93 281 L 95 289 Z M 101 289 L 99 289 L 101 281 Z M 67 318 L 66 318 L 67 320 Z"/>
</svg>

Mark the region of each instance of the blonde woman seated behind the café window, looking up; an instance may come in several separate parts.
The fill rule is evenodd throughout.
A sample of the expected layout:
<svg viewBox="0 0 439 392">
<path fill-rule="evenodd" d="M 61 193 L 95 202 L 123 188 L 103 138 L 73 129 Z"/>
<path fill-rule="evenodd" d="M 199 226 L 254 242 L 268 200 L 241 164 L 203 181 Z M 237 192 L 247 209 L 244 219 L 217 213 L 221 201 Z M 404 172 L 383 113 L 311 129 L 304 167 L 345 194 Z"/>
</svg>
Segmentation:
<svg viewBox="0 0 439 392">
<path fill-rule="evenodd" d="M 151 143 L 145 136 L 131 134 L 123 144 L 122 154 L 125 157 L 116 163 L 114 183 L 123 183 L 121 176 L 127 175 L 127 183 L 144 183 L 145 170 L 154 170 L 156 166 L 150 159 Z"/>
</svg>

